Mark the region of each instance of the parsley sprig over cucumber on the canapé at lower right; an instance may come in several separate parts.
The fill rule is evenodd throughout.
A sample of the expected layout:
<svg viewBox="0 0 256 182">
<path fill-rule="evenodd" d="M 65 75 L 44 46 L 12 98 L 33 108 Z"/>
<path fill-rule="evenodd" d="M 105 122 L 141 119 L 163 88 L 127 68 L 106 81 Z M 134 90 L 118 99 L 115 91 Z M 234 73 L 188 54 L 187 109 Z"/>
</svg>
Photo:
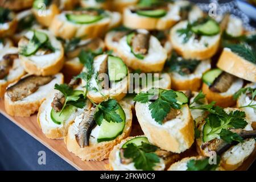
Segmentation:
<svg viewBox="0 0 256 182">
<path fill-rule="evenodd" d="M 247 122 L 245 121 L 245 112 L 243 111 L 231 111 L 229 114 L 221 107 L 213 107 L 214 112 L 208 115 L 205 119 L 205 125 L 203 129 L 203 140 L 208 142 L 214 138 L 220 137 L 225 142 L 230 143 L 233 140 L 242 142 L 242 138 L 229 131 L 229 128 L 243 129 Z"/>
</svg>

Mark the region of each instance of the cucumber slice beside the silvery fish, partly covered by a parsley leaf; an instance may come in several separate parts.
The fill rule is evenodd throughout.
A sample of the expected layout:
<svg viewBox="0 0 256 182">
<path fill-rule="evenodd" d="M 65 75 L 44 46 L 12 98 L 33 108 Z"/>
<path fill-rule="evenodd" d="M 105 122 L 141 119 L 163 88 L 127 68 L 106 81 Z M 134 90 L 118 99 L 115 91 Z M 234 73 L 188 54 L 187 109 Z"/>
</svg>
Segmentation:
<svg viewBox="0 0 256 182">
<path fill-rule="evenodd" d="M 122 118 L 122 122 L 121 123 L 108 122 L 105 119 L 103 119 L 100 126 L 99 135 L 97 138 L 98 143 L 113 140 L 123 133 L 123 129 L 125 128 L 125 119 L 126 119 L 125 111 L 123 111 L 122 107 L 119 106 L 119 109 L 116 112 Z"/>
</svg>

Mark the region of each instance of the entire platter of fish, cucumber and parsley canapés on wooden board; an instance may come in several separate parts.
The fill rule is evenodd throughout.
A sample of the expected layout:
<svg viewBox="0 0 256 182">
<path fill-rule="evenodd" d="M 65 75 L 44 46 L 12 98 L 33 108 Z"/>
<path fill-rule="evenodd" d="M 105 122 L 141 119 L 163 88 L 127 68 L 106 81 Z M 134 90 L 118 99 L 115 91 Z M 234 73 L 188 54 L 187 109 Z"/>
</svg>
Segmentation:
<svg viewBox="0 0 256 182">
<path fill-rule="evenodd" d="M 1 1 L 0 112 L 79 170 L 246 170 L 256 31 L 189 1 Z"/>
</svg>

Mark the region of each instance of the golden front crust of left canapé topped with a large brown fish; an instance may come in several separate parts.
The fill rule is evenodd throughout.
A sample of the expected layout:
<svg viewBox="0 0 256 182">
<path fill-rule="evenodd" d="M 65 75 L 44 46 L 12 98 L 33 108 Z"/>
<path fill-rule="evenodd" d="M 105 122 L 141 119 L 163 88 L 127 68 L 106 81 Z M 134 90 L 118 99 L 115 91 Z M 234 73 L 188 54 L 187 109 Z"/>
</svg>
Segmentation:
<svg viewBox="0 0 256 182">
<path fill-rule="evenodd" d="M 60 75 L 61 80 L 60 84 L 64 82 L 64 77 Z M 34 114 L 39 110 L 40 105 L 46 98 L 40 100 L 34 100 L 29 102 L 13 102 L 10 97 L 5 93 L 5 110 L 6 113 L 15 116 L 15 117 L 30 117 L 31 114 Z"/>
</svg>

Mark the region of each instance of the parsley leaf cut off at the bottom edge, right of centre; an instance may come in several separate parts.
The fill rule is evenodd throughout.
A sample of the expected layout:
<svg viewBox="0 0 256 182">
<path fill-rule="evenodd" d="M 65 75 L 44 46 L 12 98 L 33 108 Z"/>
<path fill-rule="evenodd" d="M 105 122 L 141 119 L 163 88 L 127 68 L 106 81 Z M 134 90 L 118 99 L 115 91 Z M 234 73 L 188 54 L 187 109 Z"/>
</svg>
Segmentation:
<svg viewBox="0 0 256 182">
<path fill-rule="evenodd" d="M 220 164 L 220 156 L 217 156 L 216 164 L 210 164 L 209 158 L 201 160 L 192 159 L 187 163 L 187 171 L 215 171 L 218 164 Z"/>
</svg>

